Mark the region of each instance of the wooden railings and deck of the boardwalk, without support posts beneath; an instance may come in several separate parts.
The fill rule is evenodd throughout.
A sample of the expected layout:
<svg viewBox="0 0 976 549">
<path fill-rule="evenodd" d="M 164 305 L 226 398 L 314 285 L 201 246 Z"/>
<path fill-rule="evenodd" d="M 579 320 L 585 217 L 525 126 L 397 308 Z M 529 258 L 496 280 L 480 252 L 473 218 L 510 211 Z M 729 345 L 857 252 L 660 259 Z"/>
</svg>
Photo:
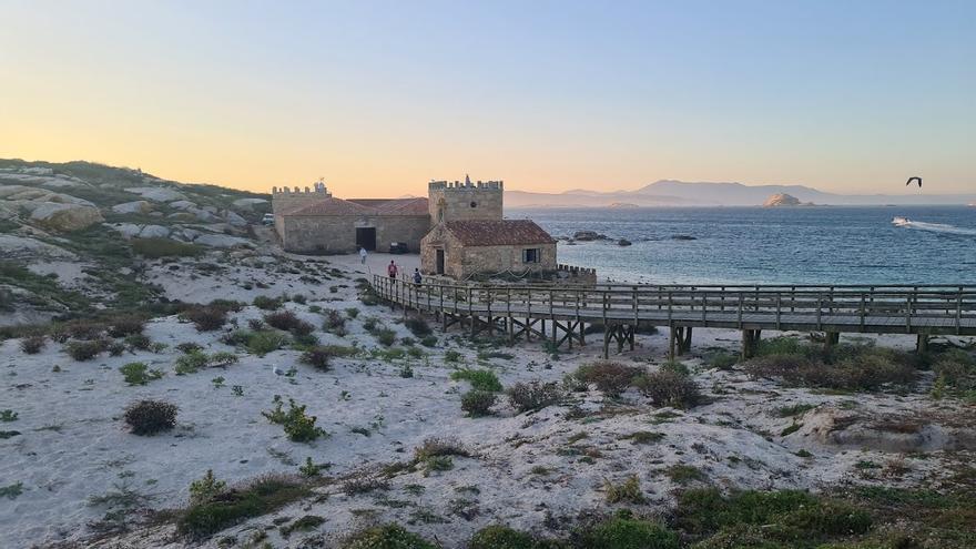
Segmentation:
<svg viewBox="0 0 976 549">
<path fill-rule="evenodd" d="M 479 317 L 976 334 L 969 285 L 418 285 L 375 276 L 373 288 L 406 308 Z"/>
</svg>

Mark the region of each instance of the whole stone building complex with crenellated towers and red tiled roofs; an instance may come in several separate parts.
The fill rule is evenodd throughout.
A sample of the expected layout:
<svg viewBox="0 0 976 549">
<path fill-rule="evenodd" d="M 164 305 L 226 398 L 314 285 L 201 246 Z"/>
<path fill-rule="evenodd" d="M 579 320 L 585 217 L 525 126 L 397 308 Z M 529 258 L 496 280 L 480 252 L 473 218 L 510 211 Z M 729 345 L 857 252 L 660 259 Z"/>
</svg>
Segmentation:
<svg viewBox="0 0 976 549">
<path fill-rule="evenodd" d="M 464 279 L 476 275 L 555 274 L 556 241 L 529 220 L 502 217 L 501 181 L 431 181 L 427 197 L 337 199 L 325 184 L 273 189 L 275 230 L 288 252 L 419 252 L 420 271 Z"/>
</svg>

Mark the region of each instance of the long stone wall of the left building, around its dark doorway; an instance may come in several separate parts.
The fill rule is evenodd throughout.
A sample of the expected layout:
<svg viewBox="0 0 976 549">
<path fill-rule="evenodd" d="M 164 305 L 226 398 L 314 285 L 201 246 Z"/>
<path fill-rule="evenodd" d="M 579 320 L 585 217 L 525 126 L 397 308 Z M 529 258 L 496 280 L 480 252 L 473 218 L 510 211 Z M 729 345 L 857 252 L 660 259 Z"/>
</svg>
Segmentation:
<svg viewBox="0 0 976 549">
<path fill-rule="evenodd" d="M 409 252 L 420 250 L 430 228 L 427 215 L 284 215 L 275 220 L 282 247 L 296 253 L 355 252 L 356 228 L 376 228 L 376 250 L 388 252 L 392 242 L 404 242 Z"/>
</svg>

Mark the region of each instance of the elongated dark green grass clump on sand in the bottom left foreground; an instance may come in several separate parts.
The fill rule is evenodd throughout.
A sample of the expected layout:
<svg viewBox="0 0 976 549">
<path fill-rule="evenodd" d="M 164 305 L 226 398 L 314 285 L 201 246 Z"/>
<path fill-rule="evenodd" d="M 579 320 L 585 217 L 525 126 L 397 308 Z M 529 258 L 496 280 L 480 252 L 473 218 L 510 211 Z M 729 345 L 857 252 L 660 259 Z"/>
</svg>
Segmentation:
<svg viewBox="0 0 976 549">
<path fill-rule="evenodd" d="M 218 532 L 252 517 L 273 512 L 308 496 L 309 489 L 292 477 L 267 475 L 222 490 L 218 497 L 191 504 L 176 522 L 177 531 L 192 537 Z"/>
</svg>

